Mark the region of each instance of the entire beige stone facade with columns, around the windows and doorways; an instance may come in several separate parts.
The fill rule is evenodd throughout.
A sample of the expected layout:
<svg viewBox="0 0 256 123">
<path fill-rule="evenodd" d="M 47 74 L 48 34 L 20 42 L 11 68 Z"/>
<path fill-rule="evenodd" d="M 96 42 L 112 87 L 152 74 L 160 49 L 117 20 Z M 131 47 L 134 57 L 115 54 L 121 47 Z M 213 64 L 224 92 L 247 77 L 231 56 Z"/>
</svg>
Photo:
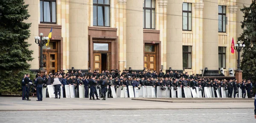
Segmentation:
<svg viewBox="0 0 256 123">
<path fill-rule="evenodd" d="M 119 70 L 129 67 L 143 69 L 143 1 L 111 0 L 111 28 L 117 28 L 119 37 Z M 35 58 L 29 63 L 32 64 L 31 69 L 38 69 L 39 48 L 34 36 L 38 36 L 40 23 L 39 0 L 25 2 L 29 4 L 31 15 L 25 22 L 32 22 L 31 38 L 28 40 L 32 46 L 29 49 L 34 50 Z M 64 69 L 88 68 L 88 26 L 93 26 L 93 0 L 76 2 L 79 4 L 57 0 L 57 24 L 62 26 Z M 183 2 L 192 3 L 192 31 L 182 31 Z M 160 30 L 163 69 L 183 69 L 182 45 L 192 46 L 192 69 L 185 70 L 189 74 L 201 73 L 204 67 L 218 70 L 218 46 L 227 47 L 225 74 L 228 75 L 228 68 L 236 69 L 236 54 L 230 53 L 230 46 L 232 38 L 236 43 L 242 32 L 239 23 L 243 20 L 243 14 L 239 11 L 243 6 L 241 3 L 249 6 L 250 0 L 156 0 L 155 22 L 156 30 Z M 218 5 L 227 6 L 226 33 L 218 33 Z"/>
</svg>

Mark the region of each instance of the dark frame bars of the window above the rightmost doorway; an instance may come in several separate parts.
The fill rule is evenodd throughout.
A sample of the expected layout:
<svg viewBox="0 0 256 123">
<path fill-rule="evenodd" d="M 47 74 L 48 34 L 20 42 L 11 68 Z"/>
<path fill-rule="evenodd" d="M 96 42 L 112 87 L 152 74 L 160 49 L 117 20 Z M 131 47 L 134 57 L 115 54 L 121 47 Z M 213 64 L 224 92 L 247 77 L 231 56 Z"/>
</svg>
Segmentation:
<svg viewBox="0 0 256 123">
<path fill-rule="evenodd" d="M 150 0 L 151 2 L 151 4 L 150 4 L 150 6 L 151 6 L 151 8 L 148 8 L 148 7 L 146 7 L 146 0 L 144 1 L 144 3 L 143 3 L 143 14 L 144 14 L 144 19 L 143 19 L 143 29 L 156 29 L 156 0 L 155 0 L 155 2 L 154 2 L 154 5 L 155 5 L 155 7 L 154 8 L 152 8 L 152 0 Z M 147 10 L 150 10 L 150 28 L 146 28 L 146 9 Z M 154 21 L 154 28 L 152 28 L 152 10 L 154 10 L 154 19 L 155 19 L 155 21 Z"/>
</svg>

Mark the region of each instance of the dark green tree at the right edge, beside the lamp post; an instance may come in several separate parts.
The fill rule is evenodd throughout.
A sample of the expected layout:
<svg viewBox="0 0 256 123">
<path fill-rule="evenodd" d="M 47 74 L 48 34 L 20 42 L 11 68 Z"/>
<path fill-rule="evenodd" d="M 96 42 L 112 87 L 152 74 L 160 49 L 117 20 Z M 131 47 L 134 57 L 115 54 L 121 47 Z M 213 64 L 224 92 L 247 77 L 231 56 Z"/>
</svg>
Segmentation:
<svg viewBox="0 0 256 123">
<path fill-rule="evenodd" d="M 256 0 L 252 0 L 250 7 L 241 9 L 244 13 L 244 21 L 241 22 L 243 33 L 238 38 L 245 44 L 242 53 L 241 70 L 243 78 L 256 80 Z"/>
</svg>

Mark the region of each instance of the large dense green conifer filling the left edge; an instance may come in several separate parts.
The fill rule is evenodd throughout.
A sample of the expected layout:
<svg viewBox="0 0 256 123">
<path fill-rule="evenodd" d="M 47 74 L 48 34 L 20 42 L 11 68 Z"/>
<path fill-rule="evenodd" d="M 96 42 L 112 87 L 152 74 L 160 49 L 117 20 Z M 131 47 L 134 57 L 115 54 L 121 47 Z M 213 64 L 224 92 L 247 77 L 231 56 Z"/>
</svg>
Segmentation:
<svg viewBox="0 0 256 123">
<path fill-rule="evenodd" d="M 17 94 L 23 74 L 29 73 L 32 50 L 29 39 L 30 15 L 23 0 L 0 0 L 0 93 Z"/>
</svg>

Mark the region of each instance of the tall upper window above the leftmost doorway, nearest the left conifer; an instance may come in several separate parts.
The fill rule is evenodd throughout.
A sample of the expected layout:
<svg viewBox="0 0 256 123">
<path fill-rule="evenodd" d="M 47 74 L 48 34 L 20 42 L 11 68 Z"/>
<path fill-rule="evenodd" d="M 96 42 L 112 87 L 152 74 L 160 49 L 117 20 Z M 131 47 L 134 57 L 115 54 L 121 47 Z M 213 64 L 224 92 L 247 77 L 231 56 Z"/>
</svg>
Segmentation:
<svg viewBox="0 0 256 123">
<path fill-rule="evenodd" d="M 56 0 L 40 0 L 40 22 L 56 23 Z"/>
</svg>

